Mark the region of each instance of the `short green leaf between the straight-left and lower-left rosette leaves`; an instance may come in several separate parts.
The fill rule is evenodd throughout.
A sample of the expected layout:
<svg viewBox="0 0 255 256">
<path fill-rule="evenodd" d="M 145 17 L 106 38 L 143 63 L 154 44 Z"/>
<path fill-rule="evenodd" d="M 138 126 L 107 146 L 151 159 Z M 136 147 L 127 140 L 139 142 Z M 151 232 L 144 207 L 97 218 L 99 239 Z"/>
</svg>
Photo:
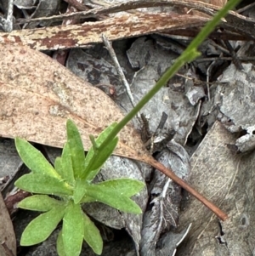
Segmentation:
<svg viewBox="0 0 255 256">
<path fill-rule="evenodd" d="M 40 212 L 48 212 L 59 206 L 65 206 L 65 202 L 45 195 L 28 196 L 18 203 L 18 208 Z"/>
</svg>

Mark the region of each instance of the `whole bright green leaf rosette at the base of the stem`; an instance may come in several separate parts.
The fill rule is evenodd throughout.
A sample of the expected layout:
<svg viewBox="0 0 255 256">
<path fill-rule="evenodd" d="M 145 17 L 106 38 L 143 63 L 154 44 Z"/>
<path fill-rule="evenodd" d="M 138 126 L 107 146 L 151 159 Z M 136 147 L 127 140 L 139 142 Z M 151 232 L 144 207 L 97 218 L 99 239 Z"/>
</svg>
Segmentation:
<svg viewBox="0 0 255 256">
<path fill-rule="evenodd" d="M 116 123 L 113 123 L 105 128 L 97 139 L 91 136 L 93 146 L 85 156 L 77 126 L 67 120 L 67 142 L 62 155 L 55 159 L 54 167 L 26 140 L 15 139 L 20 158 L 31 170 L 31 174 L 20 177 L 15 185 L 23 191 L 39 194 L 22 200 L 18 207 L 44 212 L 26 226 L 21 236 L 21 246 L 43 242 L 63 219 L 63 228 L 57 238 L 60 256 L 79 255 L 83 240 L 94 253 L 101 254 L 102 237 L 94 222 L 82 211 L 82 204 L 103 202 L 123 212 L 142 213 L 139 205 L 130 197 L 144 188 L 143 182 L 122 178 L 93 183 L 100 168 L 116 148 L 117 137 L 112 138 L 106 146 L 100 146 L 115 126 Z"/>
</svg>

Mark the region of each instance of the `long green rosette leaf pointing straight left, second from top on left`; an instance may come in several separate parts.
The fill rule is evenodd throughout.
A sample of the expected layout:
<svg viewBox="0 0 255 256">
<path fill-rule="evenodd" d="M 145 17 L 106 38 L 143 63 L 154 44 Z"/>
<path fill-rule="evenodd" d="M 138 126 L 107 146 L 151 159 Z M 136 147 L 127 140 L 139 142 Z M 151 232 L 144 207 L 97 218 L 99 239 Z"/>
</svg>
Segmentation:
<svg viewBox="0 0 255 256">
<path fill-rule="evenodd" d="M 43 174 L 25 174 L 16 180 L 15 186 L 31 193 L 71 196 L 70 185 L 65 181 Z"/>
</svg>

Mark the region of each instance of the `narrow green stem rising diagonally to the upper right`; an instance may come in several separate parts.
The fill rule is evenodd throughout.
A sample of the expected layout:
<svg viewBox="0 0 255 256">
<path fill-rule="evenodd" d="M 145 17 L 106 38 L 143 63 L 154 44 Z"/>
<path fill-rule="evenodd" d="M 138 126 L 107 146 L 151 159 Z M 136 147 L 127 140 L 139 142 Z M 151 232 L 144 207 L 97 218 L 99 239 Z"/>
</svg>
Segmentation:
<svg viewBox="0 0 255 256">
<path fill-rule="evenodd" d="M 163 87 L 167 81 L 178 72 L 178 70 L 186 63 L 195 60 L 199 53 L 197 48 L 199 45 L 208 37 L 208 35 L 214 30 L 218 25 L 220 20 L 226 15 L 229 9 L 233 9 L 237 3 L 241 0 L 230 0 L 223 9 L 219 10 L 212 20 L 207 22 L 207 25 L 202 28 L 200 33 L 195 37 L 195 39 L 190 43 L 188 48 L 184 50 L 184 53 L 178 57 L 174 64 L 163 74 L 163 76 L 156 82 L 156 85 L 150 89 L 150 91 L 144 95 L 142 100 L 130 111 L 126 117 L 118 122 L 115 128 L 111 131 L 111 134 L 107 136 L 105 141 L 99 146 L 99 150 L 104 148 L 105 145 L 111 142 L 113 138 L 122 130 L 122 128 L 129 122 L 137 113 L 144 107 L 144 105 Z"/>
</svg>

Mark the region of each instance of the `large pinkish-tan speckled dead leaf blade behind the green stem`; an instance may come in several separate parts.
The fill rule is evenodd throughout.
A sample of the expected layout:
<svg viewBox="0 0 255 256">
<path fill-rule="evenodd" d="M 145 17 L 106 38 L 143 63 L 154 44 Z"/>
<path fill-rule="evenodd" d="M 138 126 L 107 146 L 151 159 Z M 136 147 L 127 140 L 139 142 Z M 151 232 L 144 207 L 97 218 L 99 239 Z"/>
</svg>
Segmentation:
<svg viewBox="0 0 255 256">
<path fill-rule="evenodd" d="M 8 44 L 0 44 L 0 55 L 1 136 L 62 147 L 65 122 L 71 118 L 88 150 L 89 134 L 97 136 L 122 119 L 122 111 L 107 95 L 48 56 Z M 119 137 L 116 155 L 140 161 L 149 155 L 131 124 Z"/>
</svg>

